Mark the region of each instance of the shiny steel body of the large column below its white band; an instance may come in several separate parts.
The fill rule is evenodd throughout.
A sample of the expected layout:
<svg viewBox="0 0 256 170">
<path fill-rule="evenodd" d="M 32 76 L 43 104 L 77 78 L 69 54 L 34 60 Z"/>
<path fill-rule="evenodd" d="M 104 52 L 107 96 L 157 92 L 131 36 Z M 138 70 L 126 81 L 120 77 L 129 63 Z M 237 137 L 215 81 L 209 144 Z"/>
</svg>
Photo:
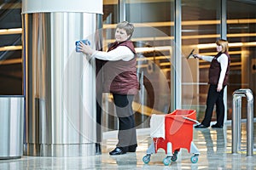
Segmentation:
<svg viewBox="0 0 256 170">
<path fill-rule="evenodd" d="M 95 60 L 75 51 L 96 48 L 97 14 L 22 14 L 26 55 L 26 139 L 29 156 L 95 154 Z"/>
</svg>

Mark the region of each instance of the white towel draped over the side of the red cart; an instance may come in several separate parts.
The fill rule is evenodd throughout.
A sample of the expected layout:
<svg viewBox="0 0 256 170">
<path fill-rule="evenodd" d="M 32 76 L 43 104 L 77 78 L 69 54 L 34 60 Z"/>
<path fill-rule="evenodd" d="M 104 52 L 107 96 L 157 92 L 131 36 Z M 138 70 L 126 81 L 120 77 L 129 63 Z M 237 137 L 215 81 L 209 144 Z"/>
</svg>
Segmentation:
<svg viewBox="0 0 256 170">
<path fill-rule="evenodd" d="M 150 137 L 166 139 L 165 115 L 153 114 L 150 119 Z"/>
</svg>

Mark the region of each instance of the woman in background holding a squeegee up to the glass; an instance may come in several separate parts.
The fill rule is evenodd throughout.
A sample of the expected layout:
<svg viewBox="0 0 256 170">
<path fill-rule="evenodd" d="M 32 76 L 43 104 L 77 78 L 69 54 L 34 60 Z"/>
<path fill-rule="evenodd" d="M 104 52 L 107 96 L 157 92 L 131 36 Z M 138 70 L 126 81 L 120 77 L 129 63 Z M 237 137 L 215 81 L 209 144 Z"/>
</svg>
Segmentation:
<svg viewBox="0 0 256 170">
<path fill-rule="evenodd" d="M 218 54 L 213 56 L 203 56 L 194 54 L 195 58 L 204 59 L 211 62 L 209 68 L 209 84 L 207 94 L 207 109 L 206 114 L 201 124 L 195 128 L 210 127 L 212 120 L 212 111 L 216 105 L 217 123 L 212 125 L 215 128 L 222 128 L 224 125 L 224 88 L 228 84 L 230 71 L 230 55 L 228 41 L 219 39 L 216 42 Z"/>
</svg>

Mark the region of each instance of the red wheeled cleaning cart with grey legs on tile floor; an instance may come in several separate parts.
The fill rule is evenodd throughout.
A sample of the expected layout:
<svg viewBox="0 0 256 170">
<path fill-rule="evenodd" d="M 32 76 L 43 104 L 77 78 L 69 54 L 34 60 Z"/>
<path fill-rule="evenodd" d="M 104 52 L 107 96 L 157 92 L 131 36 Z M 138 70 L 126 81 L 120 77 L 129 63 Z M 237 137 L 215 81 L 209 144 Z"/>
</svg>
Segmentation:
<svg viewBox="0 0 256 170">
<path fill-rule="evenodd" d="M 181 148 L 187 149 L 193 153 L 190 161 L 196 163 L 199 150 L 193 143 L 193 125 L 198 123 L 196 120 L 196 111 L 194 110 L 176 110 L 164 116 L 165 138 L 153 138 L 152 144 L 147 150 L 147 155 L 143 156 L 143 162 L 150 161 L 151 154 L 154 154 L 160 148 L 166 150 L 166 158 L 163 160 L 165 165 L 171 161 L 177 160 L 177 154 Z"/>
</svg>

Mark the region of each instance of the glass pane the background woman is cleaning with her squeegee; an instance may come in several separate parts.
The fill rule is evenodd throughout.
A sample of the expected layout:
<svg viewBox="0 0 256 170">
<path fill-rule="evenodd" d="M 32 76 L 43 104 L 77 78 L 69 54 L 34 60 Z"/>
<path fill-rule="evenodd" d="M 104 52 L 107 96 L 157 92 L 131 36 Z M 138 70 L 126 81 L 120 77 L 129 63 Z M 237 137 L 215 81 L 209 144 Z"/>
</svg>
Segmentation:
<svg viewBox="0 0 256 170">
<path fill-rule="evenodd" d="M 220 38 L 220 0 L 182 1 L 182 51 L 187 56 L 194 54 L 216 55 L 216 40 Z M 208 68 L 210 63 L 202 59 L 183 59 L 189 63 L 192 81 L 183 73 L 183 107 L 197 111 L 197 119 L 204 117 L 208 90 Z M 188 70 L 189 71 L 189 70 Z M 184 72 L 184 70 L 183 70 Z M 190 79 L 189 79 L 190 80 Z M 193 91 L 193 92 L 191 92 Z M 188 95 L 188 92 L 192 95 Z M 212 121 L 216 119 L 215 114 Z"/>
</svg>

